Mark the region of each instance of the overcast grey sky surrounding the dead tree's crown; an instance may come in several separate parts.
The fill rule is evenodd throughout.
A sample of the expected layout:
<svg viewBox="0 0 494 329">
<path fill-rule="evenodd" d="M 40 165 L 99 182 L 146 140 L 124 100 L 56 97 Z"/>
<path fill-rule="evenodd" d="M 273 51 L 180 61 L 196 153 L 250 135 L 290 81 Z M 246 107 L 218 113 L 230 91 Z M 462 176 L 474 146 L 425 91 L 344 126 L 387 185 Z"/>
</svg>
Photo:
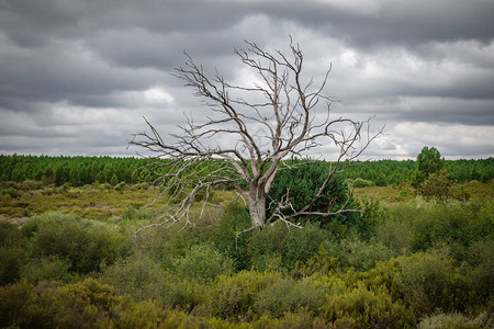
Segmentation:
<svg viewBox="0 0 494 329">
<path fill-rule="evenodd" d="M 143 116 L 166 136 L 209 113 L 170 75 L 183 50 L 248 79 L 233 49 L 291 35 L 307 76 L 333 66 L 336 114 L 385 125 L 366 159 L 493 157 L 493 0 L 0 0 L 0 154 L 133 156 Z"/>
</svg>

